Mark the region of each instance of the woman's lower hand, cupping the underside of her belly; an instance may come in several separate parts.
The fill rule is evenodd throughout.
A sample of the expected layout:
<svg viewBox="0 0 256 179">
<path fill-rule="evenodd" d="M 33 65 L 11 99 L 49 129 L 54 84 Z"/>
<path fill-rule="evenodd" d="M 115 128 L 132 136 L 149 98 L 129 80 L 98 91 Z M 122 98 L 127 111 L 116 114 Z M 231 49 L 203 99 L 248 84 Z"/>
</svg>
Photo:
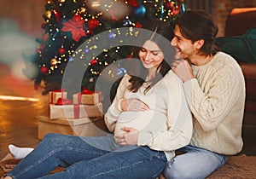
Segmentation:
<svg viewBox="0 0 256 179">
<path fill-rule="evenodd" d="M 114 139 L 120 146 L 137 145 L 138 130 L 131 127 L 122 127 L 124 134 L 115 135 Z"/>
</svg>

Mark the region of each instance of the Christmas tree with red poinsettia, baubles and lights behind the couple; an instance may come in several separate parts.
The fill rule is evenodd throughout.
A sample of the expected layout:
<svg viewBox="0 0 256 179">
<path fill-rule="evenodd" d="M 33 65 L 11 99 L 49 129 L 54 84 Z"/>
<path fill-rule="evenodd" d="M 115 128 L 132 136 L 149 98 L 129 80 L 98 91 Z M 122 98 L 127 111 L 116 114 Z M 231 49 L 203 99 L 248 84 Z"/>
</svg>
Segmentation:
<svg viewBox="0 0 256 179">
<path fill-rule="evenodd" d="M 143 22 L 148 19 L 173 24 L 174 18 L 184 11 L 183 1 L 173 0 L 47 0 L 42 24 L 45 33 L 37 39 L 36 55 L 26 60 L 23 72 L 35 81 L 36 89 L 44 83 L 44 95 L 50 90 L 61 89 L 68 63 L 81 61 L 80 66 L 86 71 L 79 90 L 95 90 L 102 69 L 131 55 L 131 47 L 109 43 L 111 39 L 116 40 L 119 34 L 112 32 L 112 29 L 143 28 Z M 96 37 L 102 32 L 107 32 L 105 37 Z M 134 37 L 132 33 L 129 35 Z M 109 43 L 109 48 L 99 49 L 99 43 Z M 96 49 L 101 53 L 94 52 Z M 108 72 L 108 75 L 113 78 L 124 73 L 125 69 L 120 67 L 117 72 Z M 72 75 L 75 80 L 78 75 L 76 70 Z"/>
</svg>

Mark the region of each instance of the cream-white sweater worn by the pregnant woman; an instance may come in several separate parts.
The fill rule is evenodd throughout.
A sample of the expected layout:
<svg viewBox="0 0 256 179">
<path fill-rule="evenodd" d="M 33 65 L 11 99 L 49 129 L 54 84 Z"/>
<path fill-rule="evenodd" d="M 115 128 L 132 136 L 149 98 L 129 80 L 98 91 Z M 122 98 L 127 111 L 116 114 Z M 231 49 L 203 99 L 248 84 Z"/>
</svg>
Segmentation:
<svg viewBox="0 0 256 179">
<path fill-rule="evenodd" d="M 148 90 L 147 83 L 132 93 L 128 90 L 131 76 L 125 75 L 119 84 L 112 105 L 105 114 L 108 130 L 119 133 L 120 127 L 139 130 L 138 146 L 148 146 L 164 151 L 167 159 L 174 157 L 174 150 L 189 144 L 192 136 L 192 116 L 186 102 L 183 83 L 177 75 L 169 71 L 164 78 Z M 138 98 L 148 104 L 146 112 L 122 112 L 119 101 Z"/>
</svg>

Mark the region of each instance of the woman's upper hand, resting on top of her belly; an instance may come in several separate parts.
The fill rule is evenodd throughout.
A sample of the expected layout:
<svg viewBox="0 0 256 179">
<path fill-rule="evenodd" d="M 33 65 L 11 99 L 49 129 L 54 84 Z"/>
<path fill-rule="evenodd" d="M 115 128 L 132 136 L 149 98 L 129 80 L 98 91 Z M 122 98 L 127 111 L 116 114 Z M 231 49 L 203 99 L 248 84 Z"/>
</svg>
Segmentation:
<svg viewBox="0 0 256 179">
<path fill-rule="evenodd" d="M 145 102 L 137 98 L 122 100 L 120 105 L 121 105 L 122 111 L 138 112 L 138 111 L 147 111 L 149 109 L 148 105 Z"/>
</svg>

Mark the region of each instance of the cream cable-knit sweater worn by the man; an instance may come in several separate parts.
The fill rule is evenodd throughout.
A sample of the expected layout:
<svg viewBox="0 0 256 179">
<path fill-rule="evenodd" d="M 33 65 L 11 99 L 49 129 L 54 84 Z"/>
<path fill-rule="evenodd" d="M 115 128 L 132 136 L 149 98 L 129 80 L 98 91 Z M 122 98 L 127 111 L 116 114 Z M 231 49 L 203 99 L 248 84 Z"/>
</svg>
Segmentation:
<svg viewBox="0 0 256 179">
<path fill-rule="evenodd" d="M 239 153 L 245 105 L 241 67 L 230 55 L 218 52 L 206 65 L 192 69 L 195 78 L 183 84 L 194 114 L 190 144 L 216 153 Z"/>
</svg>

